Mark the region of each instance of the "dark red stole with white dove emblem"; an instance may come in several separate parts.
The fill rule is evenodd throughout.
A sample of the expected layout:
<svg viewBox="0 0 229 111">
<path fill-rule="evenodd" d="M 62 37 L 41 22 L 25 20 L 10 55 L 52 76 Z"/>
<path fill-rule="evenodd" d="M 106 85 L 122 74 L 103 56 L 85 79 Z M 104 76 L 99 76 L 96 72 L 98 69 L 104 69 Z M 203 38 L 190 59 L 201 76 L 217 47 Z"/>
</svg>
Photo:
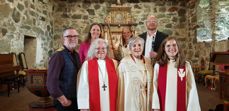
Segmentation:
<svg viewBox="0 0 229 111">
<path fill-rule="evenodd" d="M 159 96 L 161 111 L 165 111 L 167 67 L 168 67 L 167 64 L 160 66 L 159 74 L 158 74 L 158 96 Z M 185 72 L 185 67 L 182 68 L 179 67 L 178 71 L 180 69 L 184 69 Z M 178 71 L 177 71 L 177 111 L 186 111 L 187 109 L 186 108 L 186 74 L 181 80 Z"/>
</svg>

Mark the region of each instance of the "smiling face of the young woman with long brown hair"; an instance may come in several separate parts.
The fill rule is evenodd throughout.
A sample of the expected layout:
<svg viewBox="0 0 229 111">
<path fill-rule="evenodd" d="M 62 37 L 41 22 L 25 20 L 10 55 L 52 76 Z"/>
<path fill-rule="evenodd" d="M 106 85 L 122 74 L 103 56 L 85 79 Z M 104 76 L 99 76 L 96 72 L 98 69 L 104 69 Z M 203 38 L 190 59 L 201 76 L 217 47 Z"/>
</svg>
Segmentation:
<svg viewBox="0 0 229 111">
<path fill-rule="evenodd" d="M 178 53 L 178 46 L 174 39 L 171 39 L 165 43 L 165 53 L 169 59 L 175 59 Z"/>
</svg>

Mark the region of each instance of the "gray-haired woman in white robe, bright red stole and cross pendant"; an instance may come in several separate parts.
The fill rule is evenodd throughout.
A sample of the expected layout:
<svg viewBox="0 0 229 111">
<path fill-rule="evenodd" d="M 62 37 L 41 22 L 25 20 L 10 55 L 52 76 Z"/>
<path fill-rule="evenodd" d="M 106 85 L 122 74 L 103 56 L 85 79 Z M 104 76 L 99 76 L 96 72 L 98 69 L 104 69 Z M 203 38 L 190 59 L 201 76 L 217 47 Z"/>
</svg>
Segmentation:
<svg viewBox="0 0 229 111">
<path fill-rule="evenodd" d="M 108 44 L 92 42 L 79 72 L 77 103 L 81 111 L 117 111 L 118 75 L 115 63 L 107 57 Z"/>
</svg>

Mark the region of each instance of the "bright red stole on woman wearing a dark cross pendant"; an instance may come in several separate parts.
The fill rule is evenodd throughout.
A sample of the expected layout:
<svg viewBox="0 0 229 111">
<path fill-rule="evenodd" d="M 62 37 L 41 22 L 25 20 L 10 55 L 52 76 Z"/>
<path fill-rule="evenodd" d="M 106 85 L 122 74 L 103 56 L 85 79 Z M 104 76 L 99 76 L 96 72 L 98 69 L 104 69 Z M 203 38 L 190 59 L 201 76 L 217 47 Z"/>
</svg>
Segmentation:
<svg viewBox="0 0 229 111">
<path fill-rule="evenodd" d="M 106 58 L 105 62 L 106 62 L 108 83 L 109 83 L 110 111 L 116 111 L 118 76 L 116 74 L 113 61 L 109 58 Z M 98 68 L 97 59 L 92 59 L 88 61 L 90 111 L 101 111 L 98 69 L 99 68 Z"/>
</svg>

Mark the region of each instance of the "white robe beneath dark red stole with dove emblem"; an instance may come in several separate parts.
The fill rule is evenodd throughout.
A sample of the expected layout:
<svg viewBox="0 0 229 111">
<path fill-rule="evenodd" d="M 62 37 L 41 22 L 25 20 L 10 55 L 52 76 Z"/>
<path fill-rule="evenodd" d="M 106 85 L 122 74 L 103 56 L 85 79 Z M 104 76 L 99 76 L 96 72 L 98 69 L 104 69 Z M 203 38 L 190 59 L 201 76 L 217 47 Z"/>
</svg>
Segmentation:
<svg viewBox="0 0 229 111">
<path fill-rule="evenodd" d="M 187 82 L 187 111 L 200 111 L 200 104 L 196 90 L 195 78 L 189 62 L 186 62 L 185 68 Z M 156 63 L 154 66 L 152 109 L 160 109 L 159 96 L 157 92 L 158 73 L 159 64 Z M 177 111 L 177 68 L 175 67 L 175 61 L 168 62 L 166 80 L 167 82 L 165 93 L 165 111 Z"/>
</svg>

